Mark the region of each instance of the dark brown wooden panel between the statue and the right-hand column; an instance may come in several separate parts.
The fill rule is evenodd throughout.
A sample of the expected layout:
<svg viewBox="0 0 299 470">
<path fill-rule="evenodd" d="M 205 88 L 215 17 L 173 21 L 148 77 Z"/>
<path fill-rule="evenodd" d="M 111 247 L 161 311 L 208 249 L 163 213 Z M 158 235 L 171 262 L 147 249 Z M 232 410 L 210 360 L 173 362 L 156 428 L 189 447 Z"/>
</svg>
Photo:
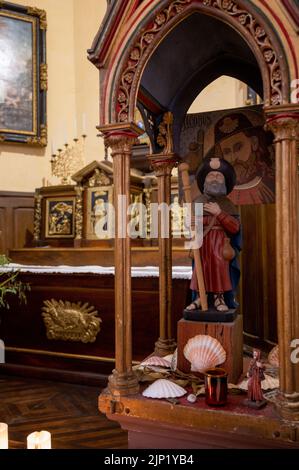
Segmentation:
<svg viewBox="0 0 299 470">
<path fill-rule="evenodd" d="M 243 206 L 240 212 L 245 341 L 270 349 L 277 341 L 275 205 Z"/>
</svg>

